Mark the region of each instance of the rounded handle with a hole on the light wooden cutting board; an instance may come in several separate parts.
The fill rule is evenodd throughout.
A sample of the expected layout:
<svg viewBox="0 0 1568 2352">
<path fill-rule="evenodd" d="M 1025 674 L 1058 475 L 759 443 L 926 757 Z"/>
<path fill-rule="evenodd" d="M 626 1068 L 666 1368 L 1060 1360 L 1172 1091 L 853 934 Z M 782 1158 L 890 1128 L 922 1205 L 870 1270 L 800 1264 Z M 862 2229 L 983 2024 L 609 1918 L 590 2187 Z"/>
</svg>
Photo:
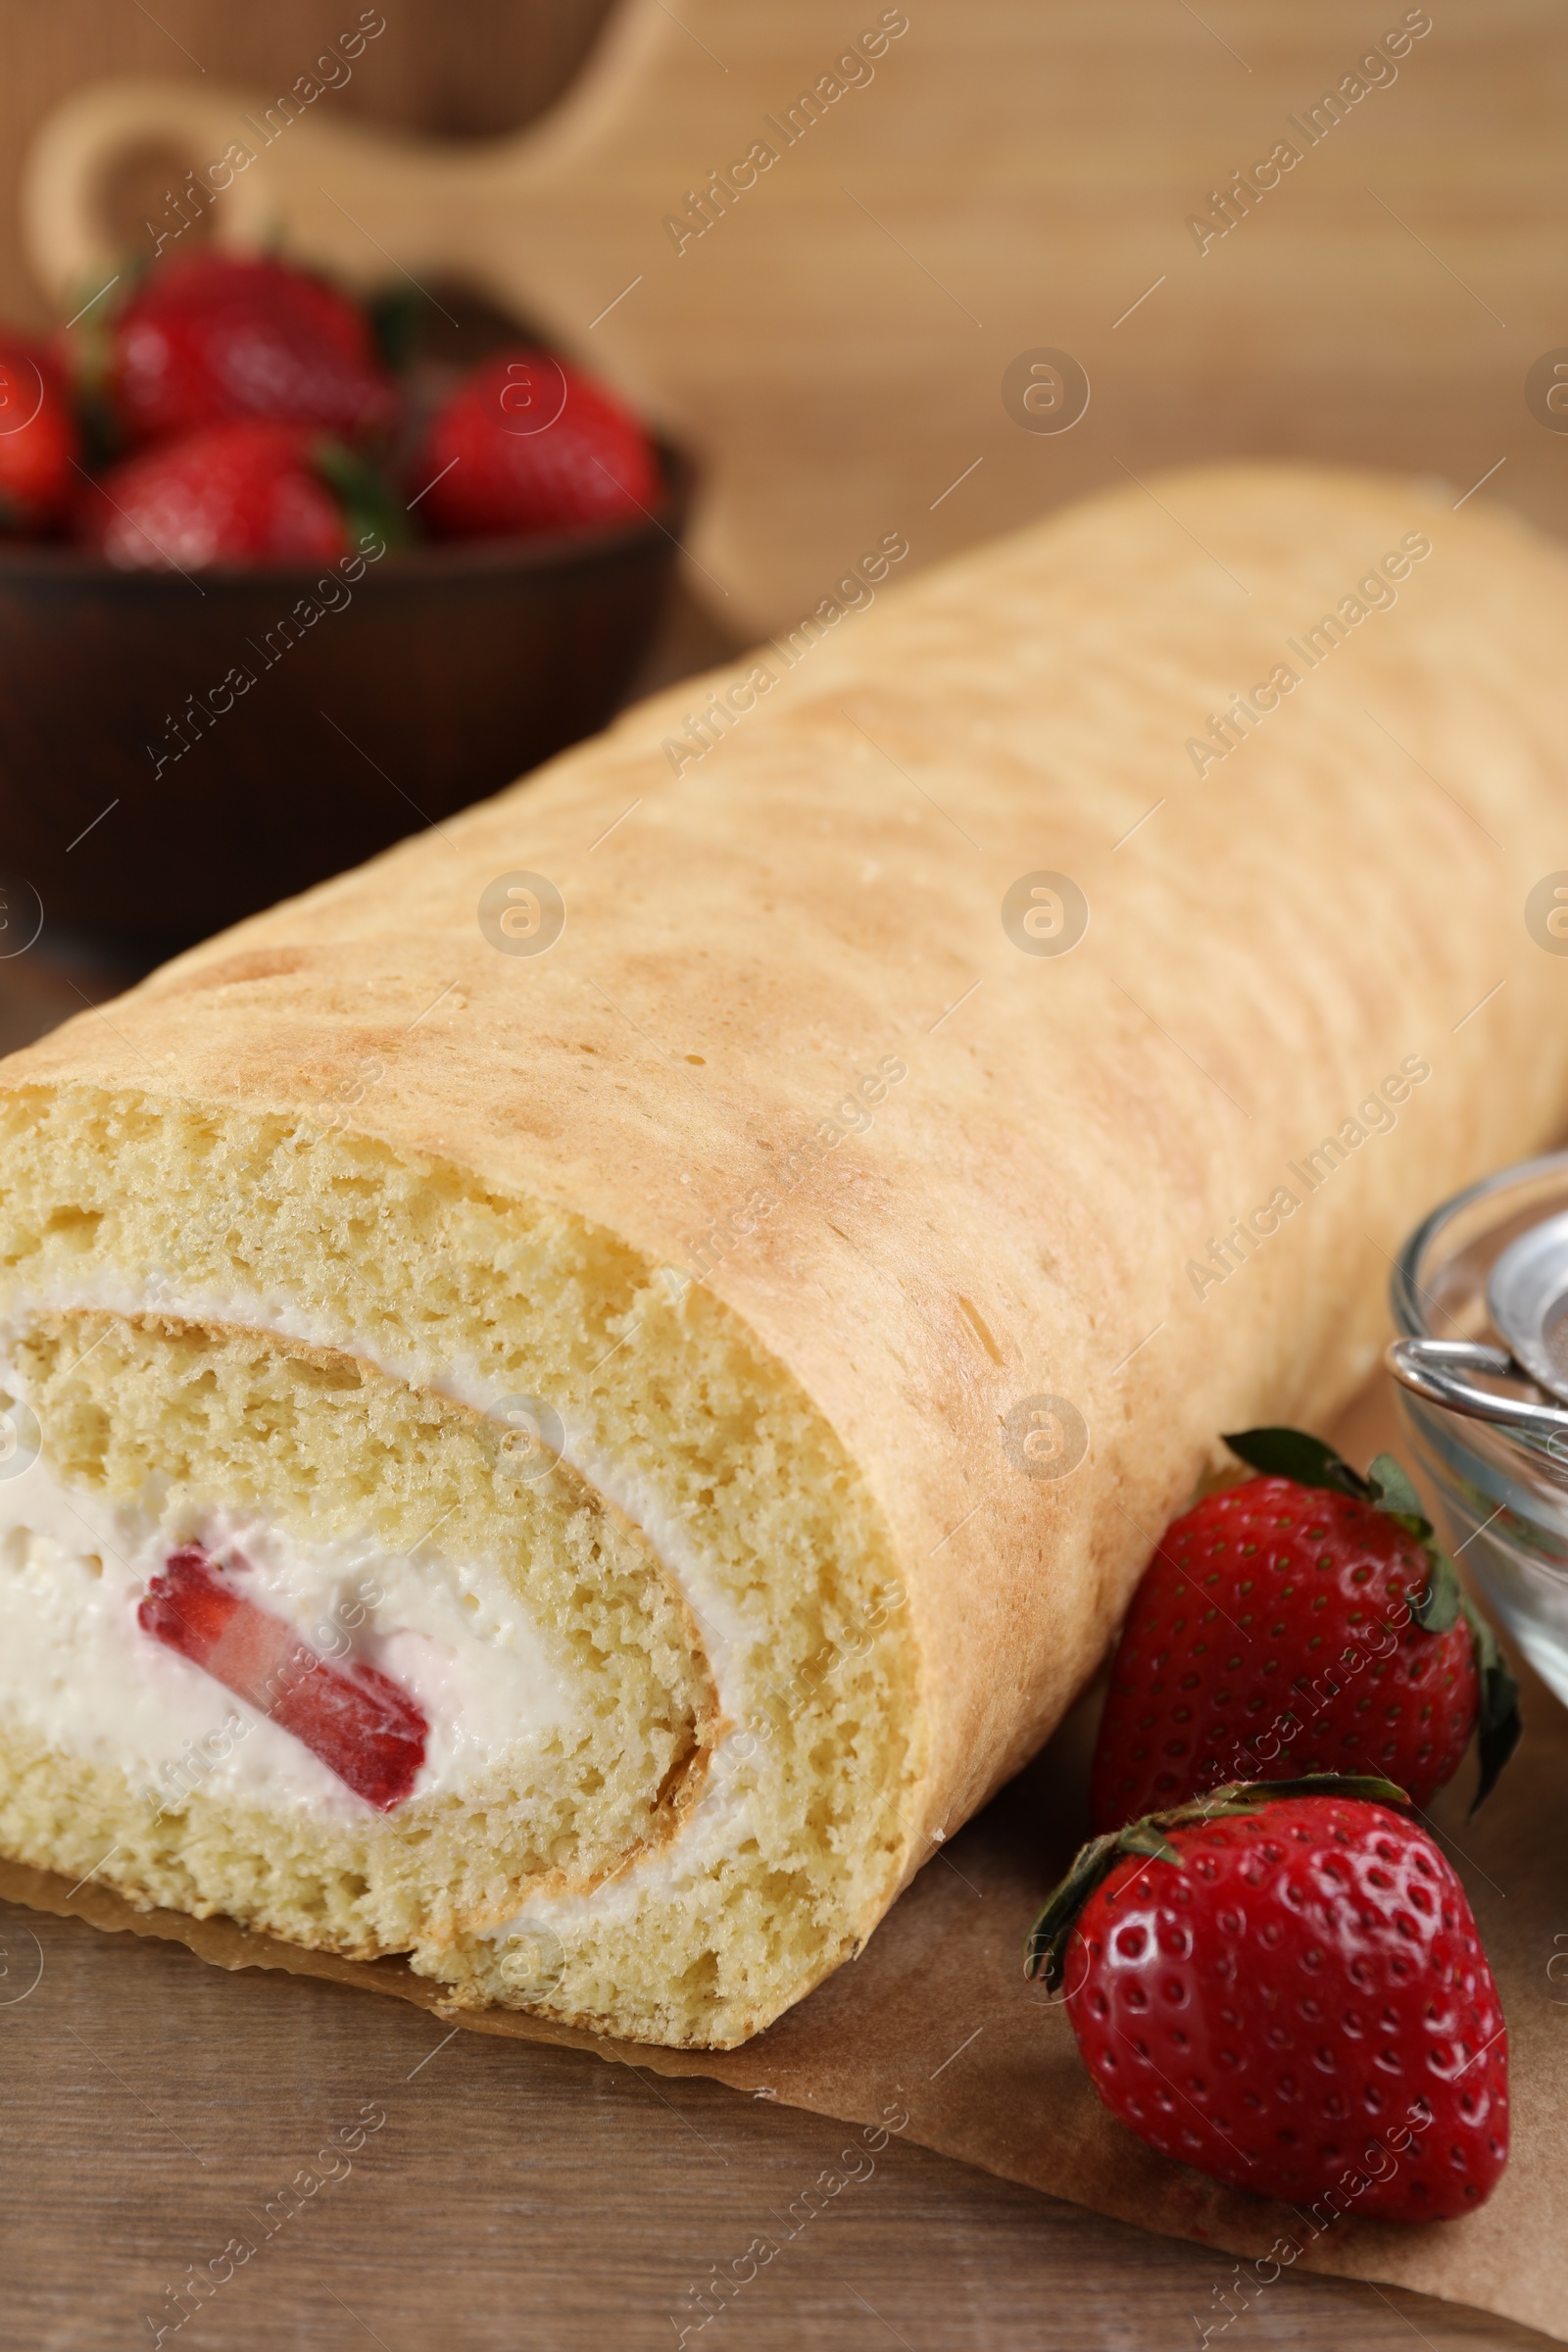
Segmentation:
<svg viewBox="0 0 1568 2352">
<path fill-rule="evenodd" d="M 458 266 L 473 278 L 475 259 L 482 270 L 475 207 L 484 205 L 503 153 L 503 146 L 442 151 L 364 129 L 331 118 L 320 99 L 99 82 L 59 106 L 28 151 L 24 238 L 45 292 L 75 310 L 127 261 L 125 233 L 110 219 L 115 183 L 134 162 L 158 155 L 183 160 L 167 200 L 146 221 L 148 261 L 179 252 L 186 230 L 207 221 L 226 247 L 287 242 L 360 287 Z"/>
</svg>

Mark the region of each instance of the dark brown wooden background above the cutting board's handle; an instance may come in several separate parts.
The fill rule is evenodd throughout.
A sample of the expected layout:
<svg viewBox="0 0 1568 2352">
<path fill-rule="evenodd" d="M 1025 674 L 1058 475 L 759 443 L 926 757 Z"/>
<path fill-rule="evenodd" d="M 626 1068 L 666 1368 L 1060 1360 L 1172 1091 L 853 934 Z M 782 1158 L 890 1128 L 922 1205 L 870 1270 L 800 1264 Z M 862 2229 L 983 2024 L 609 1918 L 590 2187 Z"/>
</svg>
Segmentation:
<svg viewBox="0 0 1568 2352">
<path fill-rule="evenodd" d="M 0 0 L 0 320 L 45 325 L 21 259 L 16 179 L 38 122 L 113 73 L 287 89 L 362 0 Z M 329 106 L 484 139 L 567 87 L 614 0 L 383 0 L 386 33 Z M 205 73 L 202 73 L 205 68 Z"/>
</svg>

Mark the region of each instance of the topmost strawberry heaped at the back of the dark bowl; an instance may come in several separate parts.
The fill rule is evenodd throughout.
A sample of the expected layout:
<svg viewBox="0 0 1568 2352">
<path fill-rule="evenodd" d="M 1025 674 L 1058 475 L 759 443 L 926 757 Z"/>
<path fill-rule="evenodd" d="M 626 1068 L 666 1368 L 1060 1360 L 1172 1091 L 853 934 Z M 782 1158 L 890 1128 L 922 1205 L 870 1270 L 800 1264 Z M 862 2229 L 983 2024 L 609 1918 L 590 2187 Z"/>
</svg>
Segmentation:
<svg viewBox="0 0 1568 2352">
<path fill-rule="evenodd" d="M 353 440 L 393 414 L 364 313 L 324 280 L 266 256 L 169 261 L 106 327 L 80 329 L 71 350 L 134 442 L 242 416 Z"/>
</svg>

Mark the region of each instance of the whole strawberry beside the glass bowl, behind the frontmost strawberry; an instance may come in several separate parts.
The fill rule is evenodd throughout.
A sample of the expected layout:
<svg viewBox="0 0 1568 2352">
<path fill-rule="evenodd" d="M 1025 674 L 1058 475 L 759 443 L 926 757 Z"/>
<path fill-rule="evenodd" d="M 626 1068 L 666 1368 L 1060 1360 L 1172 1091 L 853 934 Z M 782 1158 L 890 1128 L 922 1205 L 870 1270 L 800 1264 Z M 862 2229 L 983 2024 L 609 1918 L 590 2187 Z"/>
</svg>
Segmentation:
<svg viewBox="0 0 1568 2352">
<path fill-rule="evenodd" d="M 1276 1475 L 1166 1529 L 1112 1668 L 1093 1828 L 1316 1771 L 1387 1773 L 1425 1806 L 1476 1724 L 1479 1804 L 1519 1738 L 1519 1689 L 1394 1456 L 1359 1477 L 1300 1430 L 1225 1442 Z"/>
</svg>

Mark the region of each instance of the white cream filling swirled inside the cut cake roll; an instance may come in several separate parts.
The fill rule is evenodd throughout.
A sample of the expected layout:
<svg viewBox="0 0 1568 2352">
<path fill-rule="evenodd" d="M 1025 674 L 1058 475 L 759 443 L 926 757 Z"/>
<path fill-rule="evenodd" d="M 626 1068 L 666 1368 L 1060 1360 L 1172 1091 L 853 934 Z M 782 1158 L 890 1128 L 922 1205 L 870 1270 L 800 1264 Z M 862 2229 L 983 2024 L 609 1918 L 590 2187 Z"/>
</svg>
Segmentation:
<svg viewBox="0 0 1568 2352">
<path fill-rule="evenodd" d="M 7 1367 L 16 1334 L 35 1312 L 242 1324 L 355 1355 L 390 1378 L 475 1411 L 498 1402 L 475 1367 L 414 1355 L 388 1362 L 324 1317 L 256 1296 L 174 1298 L 158 1272 L 141 1291 L 96 1282 L 92 1289 L 49 1289 L 12 1301 L 0 1324 L 0 1385 L 9 1395 L 24 1392 Z M 642 1531 L 691 1609 L 717 1689 L 722 1733 L 731 1733 L 745 1722 L 741 1686 L 750 1635 L 691 1526 L 635 1470 L 623 1463 L 611 1470 L 590 1432 L 571 1421 L 564 1423 L 562 1461 Z M 461 1790 L 498 1757 L 501 1743 L 508 1752 L 520 1740 L 543 1743 L 571 1719 L 574 1693 L 548 1665 L 524 1604 L 498 1569 L 447 1562 L 428 1545 L 418 1569 L 374 1545 L 303 1550 L 266 1522 L 233 1515 L 174 1526 L 153 1510 L 127 1512 L 80 1491 L 66 1494 L 42 1461 L 0 1482 L 0 1710 L 33 1722 L 56 1750 L 110 1757 L 141 1773 L 153 1790 L 193 1785 L 188 1759 L 195 1752 L 202 1759 L 195 1773 L 200 1785 L 233 1792 L 240 1802 L 357 1806 L 362 1799 L 292 1733 L 136 1625 L 148 1578 L 176 1543 L 193 1538 L 214 1552 L 226 1543 L 240 1550 L 256 1576 L 247 1585 L 252 1597 L 287 1616 L 324 1653 L 334 1653 L 336 1642 L 317 1628 L 353 1625 L 355 1653 L 421 1703 L 430 1740 L 414 1797 Z M 367 1592 L 378 1599 L 369 1604 Z M 362 1625 L 357 1609 L 364 1609 Z M 247 1731 L 242 1738 L 230 1733 L 228 1752 L 219 1752 L 235 1717 Z M 491 1936 L 501 1940 L 541 1924 L 567 1933 L 576 1922 L 630 1919 L 646 1900 L 677 1898 L 682 1886 L 710 1877 L 752 1835 L 755 1780 L 750 1743 L 724 1740 L 708 1788 L 675 1837 L 637 1853 L 592 1893 L 527 1900 L 527 1910 Z"/>
</svg>

